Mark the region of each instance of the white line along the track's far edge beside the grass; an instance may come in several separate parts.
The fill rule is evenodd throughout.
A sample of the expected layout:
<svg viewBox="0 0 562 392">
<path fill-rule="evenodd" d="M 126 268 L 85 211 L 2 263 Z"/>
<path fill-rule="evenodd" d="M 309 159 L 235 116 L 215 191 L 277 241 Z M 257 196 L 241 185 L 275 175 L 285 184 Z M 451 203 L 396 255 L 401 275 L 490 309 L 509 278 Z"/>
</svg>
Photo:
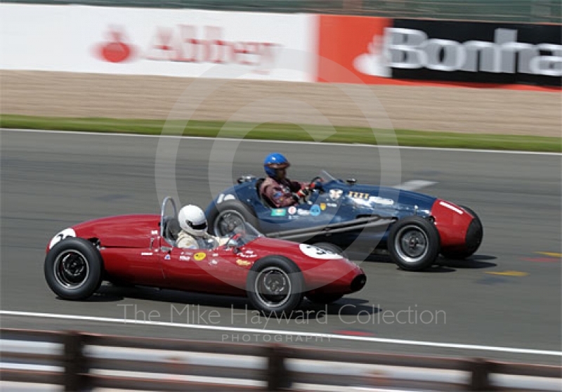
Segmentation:
<svg viewBox="0 0 562 392">
<path fill-rule="evenodd" d="M 52 129 L 12 129 L 1 128 L 1 131 L 8 132 L 35 132 L 35 133 L 70 133 L 73 135 L 96 135 L 96 136 L 126 136 L 131 138 L 182 138 L 203 141 L 233 141 L 239 138 L 211 138 L 205 136 L 171 136 L 171 135 L 143 135 L 141 133 L 119 133 L 119 132 L 89 132 L 89 131 L 56 131 Z M 439 147 L 412 147 L 408 145 L 371 145 L 362 143 L 329 143 L 329 142 L 308 142 L 308 141 L 270 141 L 260 139 L 242 139 L 244 143 L 284 143 L 284 144 L 302 144 L 302 145 L 334 145 L 344 147 L 364 147 L 364 148 L 391 148 L 399 150 L 427 150 L 427 151 L 454 151 L 454 152 L 488 152 L 493 154 L 518 154 L 518 155 L 547 155 L 554 157 L 562 157 L 559 152 L 537 152 L 537 151 L 521 151 L 521 150 L 478 150 L 471 148 L 439 148 Z"/>
</svg>

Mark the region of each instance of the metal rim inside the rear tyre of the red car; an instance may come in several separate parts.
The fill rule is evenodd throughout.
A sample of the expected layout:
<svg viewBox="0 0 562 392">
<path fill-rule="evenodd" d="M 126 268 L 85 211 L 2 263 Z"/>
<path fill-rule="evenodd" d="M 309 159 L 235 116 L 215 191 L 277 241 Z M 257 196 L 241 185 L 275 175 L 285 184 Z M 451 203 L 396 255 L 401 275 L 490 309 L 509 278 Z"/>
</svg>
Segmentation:
<svg viewBox="0 0 562 392">
<path fill-rule="evenodd" d="M 55 280 L 65 289 L 84 286 L 90 276 L 90 265 L 84 254 L 77 250 L 61 252 L 53 264 Z"/>
</svg>

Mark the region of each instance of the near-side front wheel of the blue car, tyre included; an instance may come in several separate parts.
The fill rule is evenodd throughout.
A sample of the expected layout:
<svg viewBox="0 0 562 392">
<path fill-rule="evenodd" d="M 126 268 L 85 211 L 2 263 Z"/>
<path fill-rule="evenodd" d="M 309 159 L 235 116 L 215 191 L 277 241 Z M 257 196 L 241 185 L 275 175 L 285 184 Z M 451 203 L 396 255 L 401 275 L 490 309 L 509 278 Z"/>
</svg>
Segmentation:
<svg viewBox="0 0 562 392">
<path fill-rule="evenodd" d="M 424 270 L 435 262 L 439 254 L 439 232 L 433 223 L 424 218 L 407 216 L 393 224 L 387 246 L 392 260 L 400 268 Z"/>
</svg>

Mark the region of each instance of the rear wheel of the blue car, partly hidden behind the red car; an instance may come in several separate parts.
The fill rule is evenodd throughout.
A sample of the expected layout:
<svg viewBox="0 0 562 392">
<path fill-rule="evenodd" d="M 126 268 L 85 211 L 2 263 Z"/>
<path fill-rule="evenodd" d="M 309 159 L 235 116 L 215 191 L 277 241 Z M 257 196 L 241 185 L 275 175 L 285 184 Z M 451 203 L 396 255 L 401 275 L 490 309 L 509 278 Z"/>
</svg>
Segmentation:
<svg viewBox="0 0 562 392">
<path fill-rule="evenodd" d="M 258 218 L 254 211 L 238 200 L 228 200 L 216 204 L 211 214 L 207 216 L 207 220 L 209 221 L 209 233 L 219 237 L 230 233 L 244 222 L 248 222 L 259 230 Z"/>
</svg>

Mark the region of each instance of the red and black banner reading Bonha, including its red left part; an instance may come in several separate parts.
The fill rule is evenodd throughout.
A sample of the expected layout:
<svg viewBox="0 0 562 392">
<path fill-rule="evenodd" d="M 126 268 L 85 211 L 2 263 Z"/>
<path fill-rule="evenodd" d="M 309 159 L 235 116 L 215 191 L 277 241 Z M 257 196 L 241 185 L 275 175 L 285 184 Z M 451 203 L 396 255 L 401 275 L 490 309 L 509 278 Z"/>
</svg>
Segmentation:
<svg viewBox="0 0 562 392">
<path fill-rule="evenodd" d="M 318 81 L 561 86 L 561 28 L 321 15 Z"/>
</svg>

